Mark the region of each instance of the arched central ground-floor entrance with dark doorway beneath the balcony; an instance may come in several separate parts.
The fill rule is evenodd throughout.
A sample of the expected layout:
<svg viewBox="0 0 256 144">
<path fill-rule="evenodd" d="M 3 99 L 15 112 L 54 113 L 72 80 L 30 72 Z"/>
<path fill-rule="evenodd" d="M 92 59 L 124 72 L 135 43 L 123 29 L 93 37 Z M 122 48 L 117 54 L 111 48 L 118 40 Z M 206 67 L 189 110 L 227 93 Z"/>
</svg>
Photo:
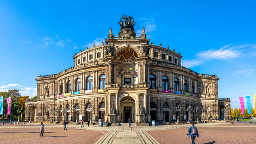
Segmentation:
<svg viewBox="0 0 256 144">
<path fill-rule="evenodd" d="M 130 118 L 132 122 L 135 122 L 136 113 L 136 99 L 132 96 L 123 96 L 119 100 L 120 108 L 120 122 L 128 122 Z"/>
</svg>

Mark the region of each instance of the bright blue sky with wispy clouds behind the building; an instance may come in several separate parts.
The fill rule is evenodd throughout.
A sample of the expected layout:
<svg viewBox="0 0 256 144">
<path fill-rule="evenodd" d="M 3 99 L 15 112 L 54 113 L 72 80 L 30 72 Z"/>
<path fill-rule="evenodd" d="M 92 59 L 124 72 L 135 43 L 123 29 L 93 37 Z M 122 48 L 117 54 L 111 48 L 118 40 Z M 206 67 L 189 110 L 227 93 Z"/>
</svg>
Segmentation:
<svg viewBox="0 0 256 144">
<path fill-rule="evenodd" d="M 256 94 L 255 1 L 0 1 L 0 91 L 36 95 L 36 78 L 74 66 L 72 56 L 115 36 L 122 14 L 154 45 L 183 56 L 182 66 L 218 75 L 218 96 Z M 105 43 L 105 42 L 104 42 Z M 254 107 L 254 102 L 252 102 Z"/>
</svg>

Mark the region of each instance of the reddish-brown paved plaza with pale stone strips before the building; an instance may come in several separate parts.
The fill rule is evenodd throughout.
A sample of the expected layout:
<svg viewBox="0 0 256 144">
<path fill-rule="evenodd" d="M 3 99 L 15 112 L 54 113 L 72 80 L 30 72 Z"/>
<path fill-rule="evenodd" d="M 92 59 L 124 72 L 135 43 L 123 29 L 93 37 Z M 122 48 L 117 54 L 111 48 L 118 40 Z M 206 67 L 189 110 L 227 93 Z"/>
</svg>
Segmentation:
<svg viewBox="0 0 256 144">
<path fill-rule="evenodd" d="M 86 123 L 85 123 L 86 124 Z M 80 125 L 44 124 L 44 137 L 40 137 L 40 123 L 26 123 L 19 125 L 0 125 L 1 144 L 191 144 L 187 137 L 189 124 L 163 125 L 131 128 L 128 123 L 119 127 L 100 127 L 93 125 L 82 127 Z M 252 144 L 255 143 L 256 123 L 241 122 L 230 125 L 226 123 L 200 123 L 195 124 L 199 131 L 196 144 Z"/>
</svg>

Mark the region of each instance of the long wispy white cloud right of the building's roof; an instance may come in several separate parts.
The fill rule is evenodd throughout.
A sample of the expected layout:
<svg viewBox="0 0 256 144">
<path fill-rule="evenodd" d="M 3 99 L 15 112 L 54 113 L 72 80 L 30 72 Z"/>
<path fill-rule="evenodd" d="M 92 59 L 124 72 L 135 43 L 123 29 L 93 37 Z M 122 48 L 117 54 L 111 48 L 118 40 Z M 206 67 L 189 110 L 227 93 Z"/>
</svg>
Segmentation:
<svg viewBox="0 0 256 144">
<path fill-rule="evenodd" d="M 247 53 L 243 50 L 246 48 Z M 192 68 L 197 65 L 201 65 L 206 61 L 211 60 L 221 60 L 221 61 L 231 61 L 238 57 L 250 57 L 253 55 L 253 51 L 255 51 L 256 44 L 243 44 L 232 46 L 231 44 L 227 44 L 219 49 L 213 49 L 207 51 L 201 51 L 196 54 L 196 59 L 191 60 L 181 60 L 183 66 L 187 68 Z M 243 49 L 243 50 L 241 50 Z M 256 55 L 256 51 L 255 51 Z M 200 61 L 199 61 L 200 60 Z M 234 75 L 234 74 L 233 74 Z"/>
</svg>

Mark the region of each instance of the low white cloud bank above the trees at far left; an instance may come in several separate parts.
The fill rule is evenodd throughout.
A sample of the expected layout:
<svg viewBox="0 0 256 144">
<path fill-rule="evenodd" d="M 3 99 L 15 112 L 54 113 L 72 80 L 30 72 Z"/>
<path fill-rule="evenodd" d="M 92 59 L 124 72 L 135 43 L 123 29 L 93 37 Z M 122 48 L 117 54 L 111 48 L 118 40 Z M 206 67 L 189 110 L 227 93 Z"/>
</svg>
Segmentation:
<svg viewBox="0 0 256 144">
<path fill-rule="evenodd" d="M 0 86 L 1 92 L 7 92 L 9 89 L 18 89 L 21 96 L 34 97 L 37 95 L 37 89 L 35 87 L 25 87 L 16 83 L 10 83 L 4 86 Z"/>
</svg>

